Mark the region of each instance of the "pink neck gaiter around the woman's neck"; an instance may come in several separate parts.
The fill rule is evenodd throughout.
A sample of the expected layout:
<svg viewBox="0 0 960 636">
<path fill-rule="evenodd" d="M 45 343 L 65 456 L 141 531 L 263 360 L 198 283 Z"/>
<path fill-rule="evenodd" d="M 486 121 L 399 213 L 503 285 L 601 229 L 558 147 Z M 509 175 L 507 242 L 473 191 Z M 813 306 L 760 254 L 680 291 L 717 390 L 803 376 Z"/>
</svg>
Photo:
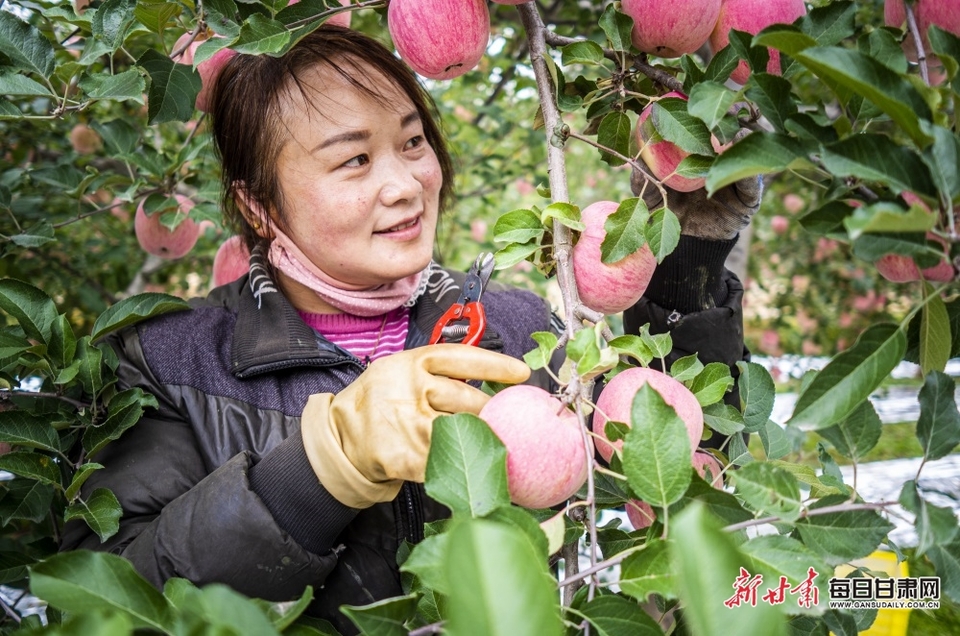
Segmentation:
<svg viewBox="0 0 960 636">
<path fill-rule="evenodd" d="M 338 281 L 310 262 L 289 236 L 270 223 L 274 239 L 267 257 L 278 270 L 313 290 L 321 300 L 355 316 L 379 316 L 397 307 L 410 306 L 423 292 L 424 271 L 376 287 L 358 287 Z M 427 269 L 429 269 L 427 265 Z"/>
</svg>

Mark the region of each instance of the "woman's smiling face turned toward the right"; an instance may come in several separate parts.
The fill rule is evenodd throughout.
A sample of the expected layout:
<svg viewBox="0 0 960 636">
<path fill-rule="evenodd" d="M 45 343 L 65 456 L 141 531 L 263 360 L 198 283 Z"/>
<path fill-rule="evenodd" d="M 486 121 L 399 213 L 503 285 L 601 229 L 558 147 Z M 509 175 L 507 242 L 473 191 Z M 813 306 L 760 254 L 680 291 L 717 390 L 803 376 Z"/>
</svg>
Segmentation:
<svg viewBox="0 0 960 636">
<path fill-rule="evenodd" d="M 360 69 L 383 99 L 319 67 L 282 104 L 277 175 L 286 234 L 323 272 L 372 287 L 433 255 L 442 173 L 410 98 Z"/>
</svg>

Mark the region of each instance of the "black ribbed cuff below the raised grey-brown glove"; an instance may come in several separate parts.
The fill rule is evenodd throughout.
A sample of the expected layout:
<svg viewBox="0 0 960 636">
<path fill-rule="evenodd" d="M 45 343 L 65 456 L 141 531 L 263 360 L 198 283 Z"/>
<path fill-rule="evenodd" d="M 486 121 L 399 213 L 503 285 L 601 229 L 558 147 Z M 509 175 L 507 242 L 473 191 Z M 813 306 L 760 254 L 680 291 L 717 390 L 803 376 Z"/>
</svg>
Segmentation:
<svg viewBox="0 0 960 636">
<path fill-rule="evenodd" d="M 722 307 L 727 300 L 723 264 L 737 244 L 680 236 L 677 248 L 657 265 L 644 297 L 681 314 Z"/>
</svg>

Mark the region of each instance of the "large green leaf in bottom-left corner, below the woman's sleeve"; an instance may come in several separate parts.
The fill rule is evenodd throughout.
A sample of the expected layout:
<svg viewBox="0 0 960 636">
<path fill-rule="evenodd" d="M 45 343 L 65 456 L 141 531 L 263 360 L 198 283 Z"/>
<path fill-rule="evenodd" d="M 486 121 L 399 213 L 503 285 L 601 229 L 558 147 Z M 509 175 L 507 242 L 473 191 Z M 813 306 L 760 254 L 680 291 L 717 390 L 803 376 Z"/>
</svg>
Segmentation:
<svg viewBox="0 0 960 636">
<path fill-rule="evenodd" d="M 167 600 L 130 561 L 115 554 L 88 550 L 55 554 L 30 568 L 30 591 L 67 612 L 119 612 L 137 627 L 173 630 Z"/>
</svg>

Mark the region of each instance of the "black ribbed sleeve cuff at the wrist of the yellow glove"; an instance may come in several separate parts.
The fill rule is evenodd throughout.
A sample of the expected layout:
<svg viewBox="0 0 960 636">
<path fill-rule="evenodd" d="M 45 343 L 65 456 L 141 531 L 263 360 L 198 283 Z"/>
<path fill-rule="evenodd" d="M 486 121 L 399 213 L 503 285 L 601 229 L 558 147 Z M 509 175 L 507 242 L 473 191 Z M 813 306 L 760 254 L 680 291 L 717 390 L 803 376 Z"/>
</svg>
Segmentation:
<svg viewBox="0 0 960 636">
<path fill-rule="evenodd" d="M 314 554 L 329 552 L 359 512 L 337 501 L 320 484 L 299 434 L 251 466 L 248 476 L 277 525 Z"/>
</svg>

